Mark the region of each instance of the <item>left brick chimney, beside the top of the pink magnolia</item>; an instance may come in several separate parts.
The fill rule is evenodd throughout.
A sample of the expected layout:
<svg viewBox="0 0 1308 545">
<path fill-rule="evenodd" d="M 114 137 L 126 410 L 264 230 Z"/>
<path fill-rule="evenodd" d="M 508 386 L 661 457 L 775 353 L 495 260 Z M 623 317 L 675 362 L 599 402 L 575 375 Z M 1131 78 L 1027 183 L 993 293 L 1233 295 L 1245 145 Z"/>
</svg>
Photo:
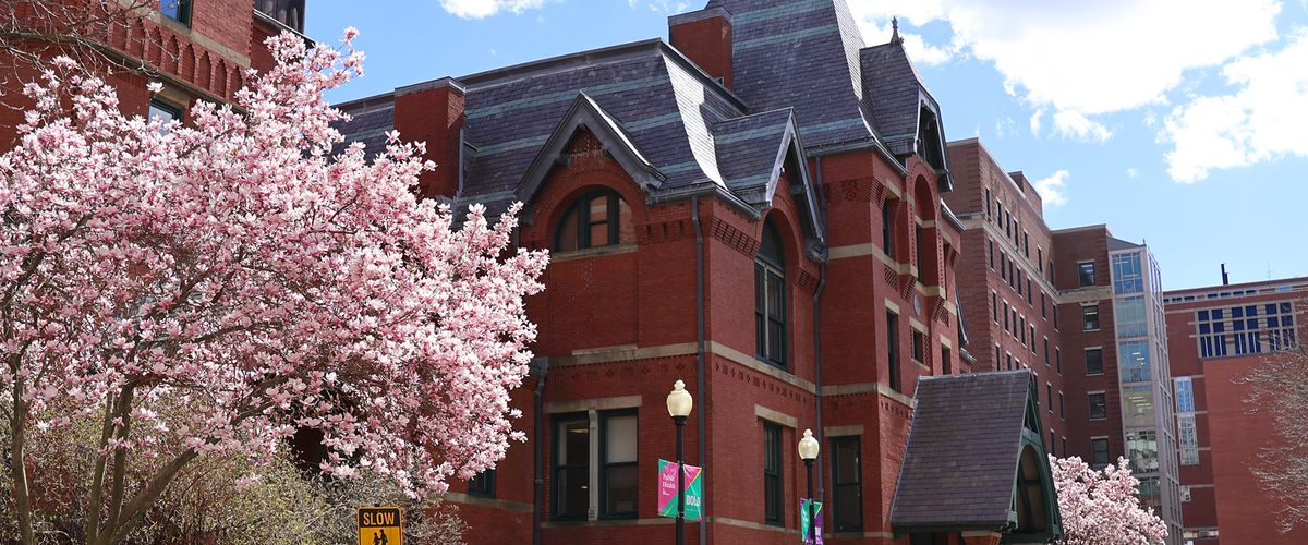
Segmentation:
<svg viewBox="0 0 1308 545">
<path fill-rule="evenodd" d="M 436 170 L 419 178 L 420 199 L 458 195 L 463 152 L 463 84 L 442 77 L 395 89 L 395 129 L 405 141 L 425 141 Z"/>
</svg>

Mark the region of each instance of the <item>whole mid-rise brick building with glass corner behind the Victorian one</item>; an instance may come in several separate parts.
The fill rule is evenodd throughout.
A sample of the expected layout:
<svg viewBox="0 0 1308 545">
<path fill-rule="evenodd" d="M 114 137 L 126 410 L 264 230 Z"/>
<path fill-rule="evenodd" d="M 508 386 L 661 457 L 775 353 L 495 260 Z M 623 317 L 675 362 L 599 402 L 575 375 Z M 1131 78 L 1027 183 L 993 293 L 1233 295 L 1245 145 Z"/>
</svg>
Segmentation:
<svg viewBox="0 0 1308 545">
<path fill-rule="evenodd" d="M 977 139 L 948 144 L 964 226 L 959 291 L 977 370 L 1029 369 L 1046 450 L 1131 461 L 1180 542 L 1180 481 L 1158 264 L 1107 226 L 1050 231 L 1039 192 Z"/>
</svg>

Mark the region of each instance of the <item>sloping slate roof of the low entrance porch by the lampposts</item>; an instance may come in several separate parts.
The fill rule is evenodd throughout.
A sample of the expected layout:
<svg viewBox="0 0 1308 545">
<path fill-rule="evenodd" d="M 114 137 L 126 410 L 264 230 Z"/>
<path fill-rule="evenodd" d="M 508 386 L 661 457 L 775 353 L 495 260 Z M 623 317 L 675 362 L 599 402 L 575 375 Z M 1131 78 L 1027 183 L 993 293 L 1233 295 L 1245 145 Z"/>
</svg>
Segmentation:
<svg viewBox="0 0 1308 545">
<path fill-rule="evenodd" d="M 892 527 L 1008 521 L 1029 384 L 1029 370 L 918 380 Z"/>
</svg>

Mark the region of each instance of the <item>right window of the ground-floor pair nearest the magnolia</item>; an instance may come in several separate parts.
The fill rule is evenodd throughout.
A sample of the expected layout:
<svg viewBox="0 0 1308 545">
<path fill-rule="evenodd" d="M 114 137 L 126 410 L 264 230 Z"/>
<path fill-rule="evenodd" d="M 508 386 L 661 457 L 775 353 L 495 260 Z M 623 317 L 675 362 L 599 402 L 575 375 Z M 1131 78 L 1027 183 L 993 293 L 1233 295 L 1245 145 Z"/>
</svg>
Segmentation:
<svg viewBox="0 0 1308 545">
<path fill-rule="evenodd" d="M 599 421 L 599 503 L 602 518 L 620 519 L 637 515 L 636 412 L 602 413 Z"/>
</svg>

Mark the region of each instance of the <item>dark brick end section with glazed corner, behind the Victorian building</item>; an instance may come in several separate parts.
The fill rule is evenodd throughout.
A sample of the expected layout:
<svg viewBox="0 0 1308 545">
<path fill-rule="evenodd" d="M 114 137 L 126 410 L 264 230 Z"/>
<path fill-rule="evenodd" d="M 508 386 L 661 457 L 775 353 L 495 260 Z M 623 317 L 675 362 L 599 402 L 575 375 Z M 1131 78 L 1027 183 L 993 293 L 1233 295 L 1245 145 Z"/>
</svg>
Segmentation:
<svg viewBox="0 0 1308 545">
<path fill-rule="evenodd" d="M 1126 456 L 1141 502 L 1181 541 L 1175 404 L 1162 274 L 1144 244 L 1107 226 L 1053 231 L 1070 454 L 1107 465 Z"/>
</svg>

